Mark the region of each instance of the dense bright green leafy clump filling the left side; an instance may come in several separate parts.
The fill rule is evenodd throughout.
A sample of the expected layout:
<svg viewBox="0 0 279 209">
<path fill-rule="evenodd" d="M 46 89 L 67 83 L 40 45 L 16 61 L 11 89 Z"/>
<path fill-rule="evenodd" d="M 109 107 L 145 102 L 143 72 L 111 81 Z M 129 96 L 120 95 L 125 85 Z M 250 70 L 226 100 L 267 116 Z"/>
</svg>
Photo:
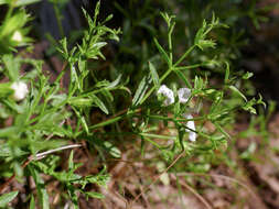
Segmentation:
<svg viewBox="0 0 279 209">
<path fill-rule="evenodd" d="M 24 10 L 13 10 L 13 7 L 15 6 L 11 3 L 11 12 L 7 14 L 6 21 L 0 28 L 1 37 L 11 38 L 15 29 L 23 28 L 29 20 Z M 86 197 L 101 198 L 101 194 L 85 191 L 84 188 L 87 184 L 105 186 L 109 179 L 105 168 L 96 176 L 75 174 L 74 172 L 81 164 L 73 163 L 73 153 L 69 156 L 68 170 L 63 172 L 54 170 L 58 165 L 58 158 L 54 155 L 46 157 L 46 161 L 36 161 L 35 157 L 42 151 L 52 148 L 55 152 L 57 148 L 60 151 L 60 147 L 67 141 L 78 141 L 83 134 L 92 135 L 88 128 L 89 108 L 99 108 L 108 114 L 107 103 L 101 98 L 106 96 L 112 100 L 114 97 L 110 91 L 125 89 L 119 82 L 120 76 L 111 82 L 103 80 L 94 86 L 90 85 L 87 61 L 105 58 L 101 54 L 101 48 L 106 45 L 105 40 L 115 40 L 119 33 L 119 30 L 110 30 L 104 25 L 111 16 L 108 16 L 104 22 L 97 22 L 98 10 L 99 4 L 96 7 L 94 20 L 84 11 L 88 21 L 88 30 L 84 32 L 81 45 L 68 50 L 67 41 L 65 38 L 61 41 L 58 51 L 65 59 L 65 68 L 54 82 L 51 82 L 50 77 L 42 72 L 42 61 L 25 59 L 11 54 L 14 47 L 22 46 L 22 43 L 19 45 L 14 42 L 4 42 L 0 45 L 1 53 L 4 53 L 1 56 L 1 73 L 9 79 L 8 82 L 1 84 L 0 88 L 1 120 L 8 117 L 13 118 L 12 125 L 0 130 L 0 161 L 3 162 L 0 168 L 1 175 L 3 175 L 3 170 L 8 176 L 14 172 L 19 179 L 24 175 L 31 175 L 35 182 L 37 198 L 43 209 L 50 208 L 50 202 L 44 186 L 45 182 L 40 176 L 41 173 L 53 176 L 61 184 L 64 184 L 76 208 L 78 207 L 77 191 L 85 194 Z M 14 23 L 17 23 L 15 26 L 13 26 Z M 32 70 L 21 75 L 20 69 L 23 64 L 30 65 Z M 66 70 L 71 72 L 71 84 L 67 89 L 62 89 L 61 82 Z M 20 91 L 20 89 L 12 89 L 12 84 L 17 81 L 29 86 L 29 92 L 20 101 L 13 98 L 13 94 Z M 76 119 L 75 129 L 71 124 L 65 124 L 66 120 L 74 118 Z M 29 172 L 23 170 L 21 166 L 26 157 L 32 161 L 28 165 Z M 75 185 L 81 185 L 81 188 Z M 1 206 L 14 198 L 17 194 L 2 196 Z M 34 204 L 31 202 L 32 207 Z"/>
</svg>

